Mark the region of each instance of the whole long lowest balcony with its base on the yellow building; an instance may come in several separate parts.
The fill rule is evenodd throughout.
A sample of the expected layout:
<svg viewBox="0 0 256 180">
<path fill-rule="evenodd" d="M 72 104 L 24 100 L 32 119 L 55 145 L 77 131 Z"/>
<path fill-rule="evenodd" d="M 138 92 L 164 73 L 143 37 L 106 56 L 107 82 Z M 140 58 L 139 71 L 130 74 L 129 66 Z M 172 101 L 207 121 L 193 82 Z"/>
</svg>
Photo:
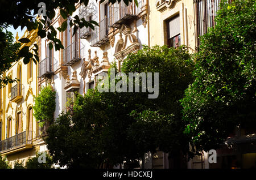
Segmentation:
<svg viewBox="0 0 256 180">
<path fill-rule="evenodd" d="M 2 156 L 11 153 L 24 151 L 32 148 L 32 135 L 34 131 L 24 131 L 11 138 L 7 138 L 0 142 L 0 152 Z"/>
</svg>

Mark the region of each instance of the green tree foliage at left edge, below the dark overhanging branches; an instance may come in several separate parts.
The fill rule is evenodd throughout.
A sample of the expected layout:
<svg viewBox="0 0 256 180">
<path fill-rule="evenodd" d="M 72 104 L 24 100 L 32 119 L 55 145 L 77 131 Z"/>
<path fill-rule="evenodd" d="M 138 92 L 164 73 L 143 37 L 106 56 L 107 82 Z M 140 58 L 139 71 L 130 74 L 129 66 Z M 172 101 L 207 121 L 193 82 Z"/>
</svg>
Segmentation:
<svg viewBox="0 0 256 180">
<path fill-rule="evenodd" d="M 6 28 L 6 24 L 0 24 L 0 88 L 4 84 L 13 83 L 17 80 L 4 76 L 4 73 L 9 70 L 13 62 L 19 61 L 20 44 L 13 41 L 13 34 Z"/>
</svg>

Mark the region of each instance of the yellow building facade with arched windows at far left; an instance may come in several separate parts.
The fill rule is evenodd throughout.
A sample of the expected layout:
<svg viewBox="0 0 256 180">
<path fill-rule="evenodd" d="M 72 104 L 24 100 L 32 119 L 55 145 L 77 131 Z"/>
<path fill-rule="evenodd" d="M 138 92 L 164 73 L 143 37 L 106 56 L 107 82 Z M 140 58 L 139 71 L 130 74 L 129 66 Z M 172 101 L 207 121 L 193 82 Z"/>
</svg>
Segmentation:
<svg viewBox="0 0 256 180">
<path fill-rule="evenodd" d="M 24 37 L 31 42 L 21 44 L 20 49 L 29 46 L 32 52 L 34 44 L 39 43 L 37 30 L 26 31 L 21 38 Z M 38 95 L 38 63 L 31 59 L 30 63 L 24 65 L 23 59 L 20 59 L 5 75 L 18 79 L 1 89 L 0 155 L 6 156 L 13 167 L 16 160 L 25 164 L 27 158 L 35 156 L 36 151 L 42 150 L 44 145 L 40 138 L 40 127 L 33 116 L 34 96 Z"/>
</svg>

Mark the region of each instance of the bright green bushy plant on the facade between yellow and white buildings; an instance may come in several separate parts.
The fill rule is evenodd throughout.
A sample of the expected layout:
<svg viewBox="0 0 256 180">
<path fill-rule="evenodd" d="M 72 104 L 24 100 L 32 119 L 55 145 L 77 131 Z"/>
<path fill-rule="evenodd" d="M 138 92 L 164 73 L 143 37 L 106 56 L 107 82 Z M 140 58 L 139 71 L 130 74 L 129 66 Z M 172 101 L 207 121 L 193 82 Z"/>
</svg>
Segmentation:
<svg viewBox="0 0 256 180">
<path fill-rule="evenodd" d="M 33 115 L 36 121 L 41 123 L 40 126 L 43 126 L 45 122 L 53 122 L 56 106 L 55 96 L 56 92 L 52 89 L 51 85 L 47 85 L 41 89 L 38 97 L 34 97 Z"/>
</svg>

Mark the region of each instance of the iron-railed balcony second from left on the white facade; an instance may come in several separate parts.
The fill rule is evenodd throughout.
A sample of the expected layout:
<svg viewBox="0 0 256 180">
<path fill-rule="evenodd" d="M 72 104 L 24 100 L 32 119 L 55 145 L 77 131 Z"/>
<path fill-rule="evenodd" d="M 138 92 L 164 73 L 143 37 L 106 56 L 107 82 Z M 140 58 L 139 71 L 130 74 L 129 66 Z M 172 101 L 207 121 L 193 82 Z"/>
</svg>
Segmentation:
<svg viewBox="0 0 256 180">
<path fill-rule="evenodd" d="M 64 66 L 72 66 L 80 61 L 81 57 L 84 57 L 84 49 L 85 46 L 82 43 L 79 43 L 79 41 L 75 41 L 67 46 L 67 48 L 63 50 Z"/>
</svg>

